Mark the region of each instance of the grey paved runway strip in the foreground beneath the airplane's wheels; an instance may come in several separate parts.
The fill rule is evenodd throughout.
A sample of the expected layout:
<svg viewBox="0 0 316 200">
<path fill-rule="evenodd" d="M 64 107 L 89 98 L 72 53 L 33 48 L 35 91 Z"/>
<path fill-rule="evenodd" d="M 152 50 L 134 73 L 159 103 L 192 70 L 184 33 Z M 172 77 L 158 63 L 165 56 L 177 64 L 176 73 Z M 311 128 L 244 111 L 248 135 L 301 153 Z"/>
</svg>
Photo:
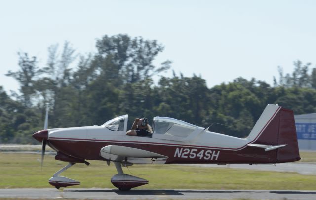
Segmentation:
<svg viewBox="0 0 316 200">
<path fill-rule="evenodd" d="M 316 191 L 299 190 L 168 190 L 168 189 L 133 189 L 122 192 L 117 189 L 65 189 L 63 192 L 54 188 L 17 188 L 0 189 L 0 198 L 80 198 L 80 199 L 115 199 L 115 200 L 162 200 L 162 199 L 225 199 L 237 198 L 253 200 L 315 200 Z"/>
</svg>

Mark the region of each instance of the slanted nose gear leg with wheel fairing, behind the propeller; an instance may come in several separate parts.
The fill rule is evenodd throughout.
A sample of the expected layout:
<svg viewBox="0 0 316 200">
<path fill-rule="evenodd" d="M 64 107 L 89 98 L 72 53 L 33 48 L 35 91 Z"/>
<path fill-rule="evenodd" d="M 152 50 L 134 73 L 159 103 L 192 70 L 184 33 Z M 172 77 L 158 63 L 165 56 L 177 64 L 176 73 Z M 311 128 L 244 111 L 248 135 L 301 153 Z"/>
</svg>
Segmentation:
<svg viewBox="0 0 316 200">
<path fill-rule="evenodd" d="M 79 181 L 76 181 L 71 178 L 67 178 L 64 176 L 59 176 L 62 172 L 66 171 L 70 167 L 72 167 L 75 163 L 70 162 L 67 166 L 57 171 L 49 180 L 48 183 L 52 186 L 55 186 L 55 188 L 59 189 L 61 187 L 67 187 L 72 185 L 80 185 Z"/>
</svg>

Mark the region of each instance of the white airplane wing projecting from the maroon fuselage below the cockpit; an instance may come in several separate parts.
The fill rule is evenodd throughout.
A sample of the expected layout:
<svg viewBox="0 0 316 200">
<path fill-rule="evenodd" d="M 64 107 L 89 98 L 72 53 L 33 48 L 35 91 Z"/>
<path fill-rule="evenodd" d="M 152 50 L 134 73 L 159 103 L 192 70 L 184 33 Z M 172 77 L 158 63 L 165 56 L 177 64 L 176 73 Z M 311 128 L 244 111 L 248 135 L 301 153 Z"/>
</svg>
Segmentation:
<svg viewBox="0 0 316 200">
<path fill-rule="evenodd" d="M 155 152 L 118 145 L 103 147 L 100 151 L 100 156 L 114 162 L 132 164 L 161 164 L 168 158 Z"/>
</svg>

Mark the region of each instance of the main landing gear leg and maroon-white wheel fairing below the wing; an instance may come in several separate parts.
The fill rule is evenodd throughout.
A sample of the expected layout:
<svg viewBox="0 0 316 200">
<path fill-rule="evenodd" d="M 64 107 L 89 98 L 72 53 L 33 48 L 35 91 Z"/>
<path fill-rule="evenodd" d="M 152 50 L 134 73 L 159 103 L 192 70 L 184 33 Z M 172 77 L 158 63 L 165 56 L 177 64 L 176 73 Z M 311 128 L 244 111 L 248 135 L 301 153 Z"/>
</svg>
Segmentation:
<svg viewBox="0 0 316 200">
<path fill-rule="evenodd" d="M 136 176 L 124 174 L 121 163 L 114 162 L 114 165 L 117 168 L 118 174 L 114 175 L 111 178 L 111 183 L 115 187 L 117 187 L 119 190 L 128 191 L 131 188 L 148 184 L 148 180 L 145 180 Z"/>
</svg>

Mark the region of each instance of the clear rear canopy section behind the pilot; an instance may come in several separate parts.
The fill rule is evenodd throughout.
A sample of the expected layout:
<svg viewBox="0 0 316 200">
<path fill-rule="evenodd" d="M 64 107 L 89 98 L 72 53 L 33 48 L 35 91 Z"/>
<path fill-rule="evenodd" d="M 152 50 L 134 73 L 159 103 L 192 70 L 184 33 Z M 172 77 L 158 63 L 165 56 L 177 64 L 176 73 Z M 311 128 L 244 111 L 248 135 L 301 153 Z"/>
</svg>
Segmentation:
<svg viewBox="0 0 316 200">
<path fill-rule="evenodd" d="M 176 137 L 187 137 L 198 128 L 190 123 L 167 117 L 154 118 L 153 126 L 154 134 Z"/>
</svg>

